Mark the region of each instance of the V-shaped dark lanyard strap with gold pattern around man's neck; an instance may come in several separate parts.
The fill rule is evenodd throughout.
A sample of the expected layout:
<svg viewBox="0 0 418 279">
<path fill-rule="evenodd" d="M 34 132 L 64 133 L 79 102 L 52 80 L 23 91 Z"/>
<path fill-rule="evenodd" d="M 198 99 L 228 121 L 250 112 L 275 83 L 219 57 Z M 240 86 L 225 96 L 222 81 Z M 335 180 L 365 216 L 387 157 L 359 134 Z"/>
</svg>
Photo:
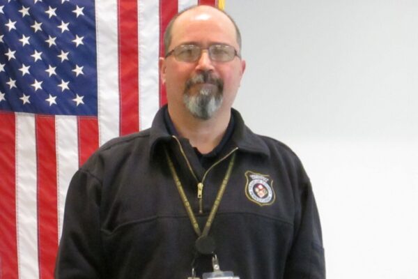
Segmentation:
<svg viewBox="0 0 418 279">
<path fill-rule="evenodd" d="M 228 169 L 226 170 L 224 180 L 222 180 L 221 187 L 218 190 L 215 202 L 213 203 L 212 209 L 210 210 L 208 220 L 206 221 L 206 225 L 203 228 L 203 232 L 201 232 L 199 223 L 197 223 L 196 217 L 194 216 L 192 206 L 190 205 L 189 200 L 186 197 L 185 191 L 180 182 L 180 179 L 178 178 L 176 169 L 174 168 L 173 161 L 171 160 L 169 156 L 169 152 L 167 151 L 167 148 L 165 148 L 164 151 L 167 157 L 167 161 L 169 163 L 171 175 L 173 176 L 174 183 L 176 183 L 178 193 L 180 194 L 183 205 L 185 206 L 185 209 L 187 211 L 187 215 L 189 216 L 190 222 L 192 223 L 194 232 L 196 232 L 197 236 L 208 236 L 210 226 L 212 225 L 213 219 L 215 219 L 217 209 L 219 208 L 219 204 L 221 203 L 221 199 L 224 195 L 226 184 L 228 184 L 229 178 L 231 177 L 232 167 L 235 162 L 235 153 L 232 154 L 231 160 L 229 160 L 229 165 L 228 165 Z"/>
</svg>

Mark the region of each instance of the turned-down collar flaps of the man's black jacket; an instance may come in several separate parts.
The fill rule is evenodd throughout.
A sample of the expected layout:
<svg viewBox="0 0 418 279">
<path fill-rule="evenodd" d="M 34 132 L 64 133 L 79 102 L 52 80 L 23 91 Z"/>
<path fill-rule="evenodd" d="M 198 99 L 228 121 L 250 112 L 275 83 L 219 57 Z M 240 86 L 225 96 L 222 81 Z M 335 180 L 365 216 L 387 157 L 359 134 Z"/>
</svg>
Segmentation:
<svg viewBox="0 0 418 279">
<path fill-rule="evenodd" d="M 158 148 L 160 143 L 170 142 L 172 140 L 164 121 L 165 110 L 167 110 L 167 105 L 161 107 L 157 114 L 155 114 L 153 124 L 150 128 L 150 158 L 153 158 L 155 149 Z M 257 153 L 266 157 L 270 156 L 268 146 L 259 135 L 254 134 L 247 126 L 245 126 L 241 114 L 234 109 L 232 109 L 231 112 L 235 119 L 235 127 L 230 141 L 234 146 L 238 147 L 238 151 Z"/>
</svg>

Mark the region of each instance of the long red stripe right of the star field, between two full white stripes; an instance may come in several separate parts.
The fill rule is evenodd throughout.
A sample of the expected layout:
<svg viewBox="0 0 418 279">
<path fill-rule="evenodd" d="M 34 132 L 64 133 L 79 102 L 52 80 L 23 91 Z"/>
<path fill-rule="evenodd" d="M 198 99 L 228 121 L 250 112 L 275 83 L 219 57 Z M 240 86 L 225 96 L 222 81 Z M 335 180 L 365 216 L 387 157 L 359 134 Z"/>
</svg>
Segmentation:
<svg viewBox="0 0 418 279">
<path fill-rule="evenodd" d="M 137 1 L 118 0 L 121 135 L 139 130 Z"/>
</svg>

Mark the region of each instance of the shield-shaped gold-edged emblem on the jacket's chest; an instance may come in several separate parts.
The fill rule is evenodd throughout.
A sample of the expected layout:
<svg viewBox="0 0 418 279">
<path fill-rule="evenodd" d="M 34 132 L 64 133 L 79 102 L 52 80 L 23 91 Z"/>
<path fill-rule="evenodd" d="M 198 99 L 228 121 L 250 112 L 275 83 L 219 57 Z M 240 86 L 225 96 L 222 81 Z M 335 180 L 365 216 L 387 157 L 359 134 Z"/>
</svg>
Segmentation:
<svg viewBox="0 0 418 279">
<path fill-rule="evenodd" d="M 270 205 L 274 202 L 276 195 L 274 195 L 273 181 L 270 176 L 247 171 L 245 178 L 247 179 L 245 195 L 251 202 L 259 206 Z"/>
</svg>

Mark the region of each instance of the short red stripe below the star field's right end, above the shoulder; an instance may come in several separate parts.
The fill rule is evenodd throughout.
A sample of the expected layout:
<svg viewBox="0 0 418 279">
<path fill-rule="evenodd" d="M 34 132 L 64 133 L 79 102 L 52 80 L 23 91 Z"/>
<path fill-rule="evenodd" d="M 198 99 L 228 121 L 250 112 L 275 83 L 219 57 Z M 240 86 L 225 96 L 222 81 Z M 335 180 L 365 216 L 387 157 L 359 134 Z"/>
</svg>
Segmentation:
<svg viewBox="0 0 418 279">
<path fill-rule="evenodd" d="M 78 117 L 79 165 L 99 147 L 98 119 L 95 117 Z"/>
</svg>

